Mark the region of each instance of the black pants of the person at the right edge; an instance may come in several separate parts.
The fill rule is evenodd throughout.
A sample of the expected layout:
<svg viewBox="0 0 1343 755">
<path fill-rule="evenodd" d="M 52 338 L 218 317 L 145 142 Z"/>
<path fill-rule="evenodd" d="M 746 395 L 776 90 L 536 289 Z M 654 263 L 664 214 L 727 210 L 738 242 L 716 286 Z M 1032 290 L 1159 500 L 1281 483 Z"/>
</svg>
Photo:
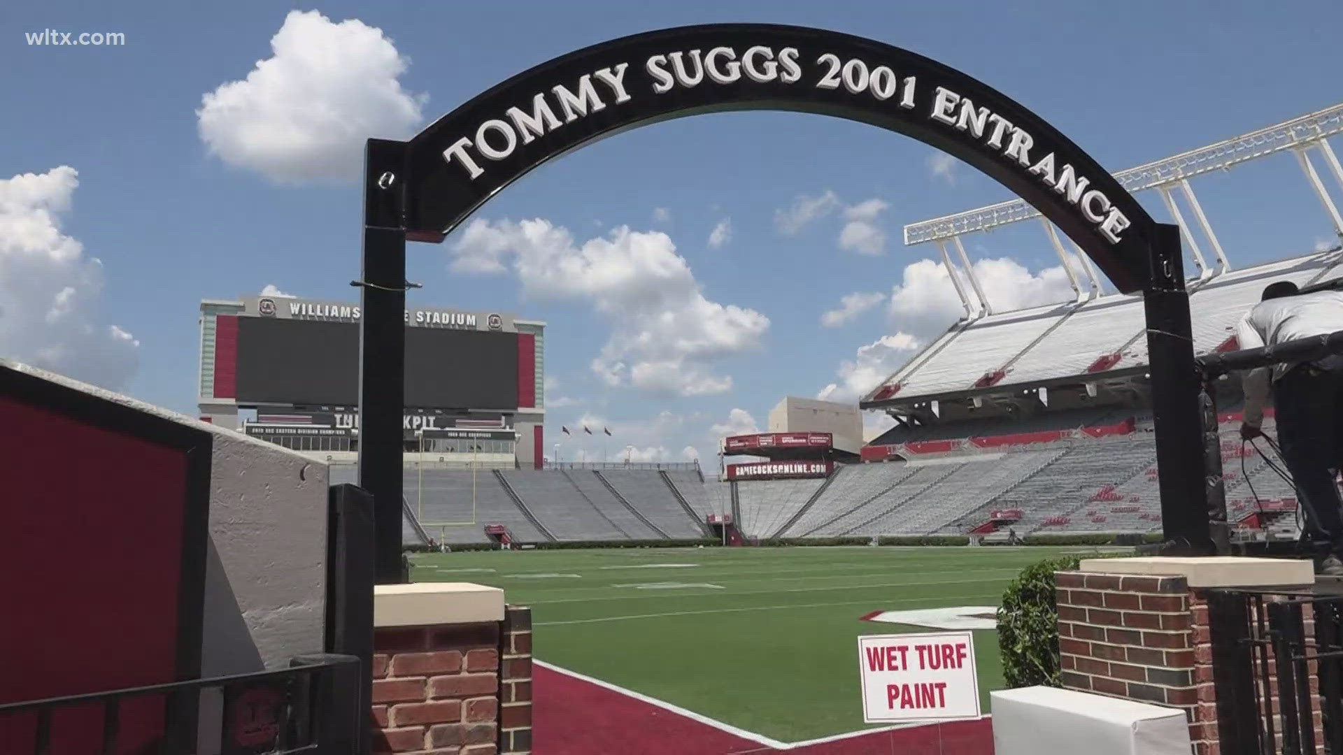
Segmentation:
<svg viewBox="0 0 1343 755">
<path fill-rule="evenodd" d="M 1277 438 L 1305 509 L 1307 529 L 1343 555 L 1343 357 L 1297 367 L 1273 384 Z"/>
</svg>

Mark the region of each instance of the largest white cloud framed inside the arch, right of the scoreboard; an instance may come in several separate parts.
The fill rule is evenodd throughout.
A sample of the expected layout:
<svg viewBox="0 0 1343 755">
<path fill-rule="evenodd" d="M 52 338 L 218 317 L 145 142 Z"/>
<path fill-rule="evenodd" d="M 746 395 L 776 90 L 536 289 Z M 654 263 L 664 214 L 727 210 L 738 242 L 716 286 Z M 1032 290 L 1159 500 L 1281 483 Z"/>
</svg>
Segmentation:
<svg viewBox="0 0 1343 755">
<path fill-rule="evenodd" d="M 770 318 L 704 296 L 662 232 L 618 227 L 577 243 L 548 220 L 473 220 L 451 247 L 454 270 L 517 273 L 524 293 L 583 300 L 611 321 L 592 360 L 608 386 L 681 396 L 721 394 L 732 378 L 717 360 L 755 349 Z"/>
</svg>

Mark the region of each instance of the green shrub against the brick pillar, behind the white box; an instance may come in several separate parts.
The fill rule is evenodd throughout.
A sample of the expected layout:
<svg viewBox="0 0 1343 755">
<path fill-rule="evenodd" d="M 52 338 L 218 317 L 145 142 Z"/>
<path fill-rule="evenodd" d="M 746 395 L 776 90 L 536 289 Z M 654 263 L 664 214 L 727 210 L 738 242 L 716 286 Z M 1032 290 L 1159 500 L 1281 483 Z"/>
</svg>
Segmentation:
<svg viewBox="0 0 1343 755">
<path fill-rule="evenodd" d="M 1078 560 L 1068 556 L 1031 564 L 1003 592 L 998 609 L 998 650 L 1009 688 L 1061 685 L 1054 572 L 1076 570 Z"/>
</svg>

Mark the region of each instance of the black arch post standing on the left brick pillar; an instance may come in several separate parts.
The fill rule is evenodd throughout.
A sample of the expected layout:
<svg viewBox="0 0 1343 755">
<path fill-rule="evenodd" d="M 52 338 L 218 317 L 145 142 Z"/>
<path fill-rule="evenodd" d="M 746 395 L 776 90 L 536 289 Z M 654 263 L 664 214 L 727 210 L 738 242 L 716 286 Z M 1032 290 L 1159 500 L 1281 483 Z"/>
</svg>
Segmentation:
<svg viewBox="0 0 1343 755">
<path fill-rule="evenodd" d="M 373 496 L 375 576 L 402 572 L 406 392 L 406 144 L 368 140 L 359 324 L 359 486 Z"/>
</svg>

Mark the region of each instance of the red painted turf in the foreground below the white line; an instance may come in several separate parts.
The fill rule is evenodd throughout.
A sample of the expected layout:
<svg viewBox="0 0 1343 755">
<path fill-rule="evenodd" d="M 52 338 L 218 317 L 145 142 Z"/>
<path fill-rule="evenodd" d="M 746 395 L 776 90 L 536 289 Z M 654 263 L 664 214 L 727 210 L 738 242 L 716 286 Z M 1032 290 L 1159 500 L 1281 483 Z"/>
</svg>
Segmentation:
<svg viewBox="0 0 1343 755">
<path fill-rule="evenodd" d="M 580 678 L 533 666 L 536 755 L 784 752 Z M 798 755 L 990 755 L 988 719 L 878 731 L 787 750 Z"/>
</svg>

